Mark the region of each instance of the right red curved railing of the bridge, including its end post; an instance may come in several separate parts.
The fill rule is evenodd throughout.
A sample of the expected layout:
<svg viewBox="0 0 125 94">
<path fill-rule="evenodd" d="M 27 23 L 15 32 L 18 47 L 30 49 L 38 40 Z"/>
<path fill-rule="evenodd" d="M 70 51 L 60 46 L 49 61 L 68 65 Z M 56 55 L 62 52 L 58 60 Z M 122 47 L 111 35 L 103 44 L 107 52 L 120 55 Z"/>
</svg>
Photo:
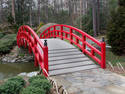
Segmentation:
<svg viewBox="0 0 125 94">
<path fill-rule="evenodd" d="M 52 37 L 53 38 L 58 37 L 62 40 L 63 39 L 69 40 L 71 44 L 75 44 L 82 50 L 84 54 L 87 54 L 94 61 L 100 64 L 101 68 L 103 69 L 106 68 L 104 41 L 100 42 L 80 29 L 62 24 L 50 26 L 40 34 L 40 39 L 52 38 Z M 97 49 L 97 47 L 90 44 L 87 40 L 90 40 L 94 44 L 96 44 L 100 48 L 100 50 Z M 87 50 L 87 47 L 90 50 Z"/>
</svg>

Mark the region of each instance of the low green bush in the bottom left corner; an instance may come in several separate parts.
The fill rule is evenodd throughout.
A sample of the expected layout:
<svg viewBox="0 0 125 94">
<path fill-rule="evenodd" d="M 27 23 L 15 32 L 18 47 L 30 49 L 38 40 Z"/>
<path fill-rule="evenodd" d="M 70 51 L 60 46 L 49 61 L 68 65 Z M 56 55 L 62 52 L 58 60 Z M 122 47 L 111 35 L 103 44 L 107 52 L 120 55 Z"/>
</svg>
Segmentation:
<svg viewBox="0 0 125 94">
<path fill-rule="evenodd" d="M 14 77 L 0 86 L 0 94 L 19 94 L 25 81 L 21 77 Z"/>
</svg>

